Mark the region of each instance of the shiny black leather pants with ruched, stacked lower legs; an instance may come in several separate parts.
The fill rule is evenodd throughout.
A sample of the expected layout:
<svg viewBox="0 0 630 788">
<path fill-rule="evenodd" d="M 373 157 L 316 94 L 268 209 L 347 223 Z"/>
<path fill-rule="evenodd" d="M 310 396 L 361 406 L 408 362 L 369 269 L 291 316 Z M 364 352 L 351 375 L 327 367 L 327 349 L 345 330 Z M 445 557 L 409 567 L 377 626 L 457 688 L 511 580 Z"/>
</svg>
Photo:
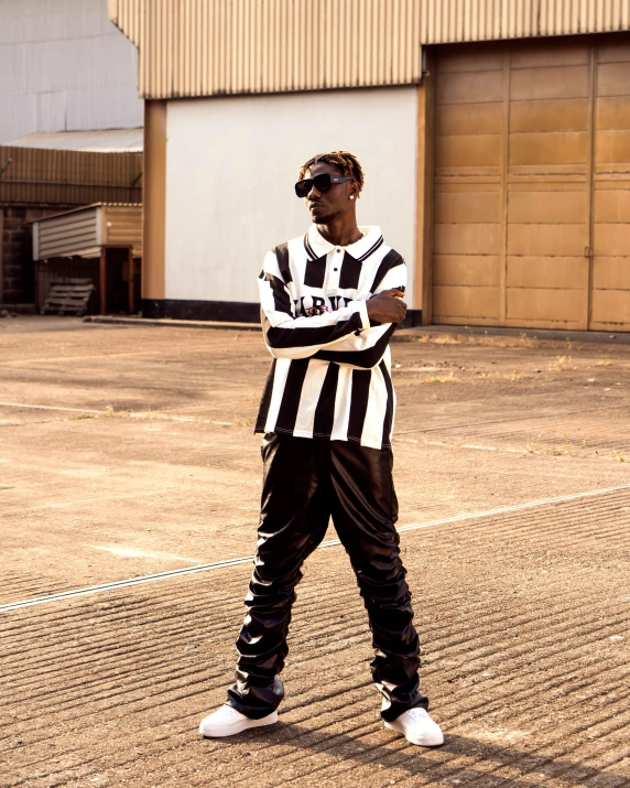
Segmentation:
<svg viewBox="0 0 630 788">
<path fill-rule="evenodd" d="M 394 528 L 392 453 L 345 441 L 269 433 L 256 566 L 237 640 L 236 683 L 227 703 L 261 719 L 284 697 L 279 673 L 302 563 L 333 522 L 357 575 L 372 630 L 373 680 L 391 721 L 428 705 L 419 692 L 419 640 Z"/>
</svg>

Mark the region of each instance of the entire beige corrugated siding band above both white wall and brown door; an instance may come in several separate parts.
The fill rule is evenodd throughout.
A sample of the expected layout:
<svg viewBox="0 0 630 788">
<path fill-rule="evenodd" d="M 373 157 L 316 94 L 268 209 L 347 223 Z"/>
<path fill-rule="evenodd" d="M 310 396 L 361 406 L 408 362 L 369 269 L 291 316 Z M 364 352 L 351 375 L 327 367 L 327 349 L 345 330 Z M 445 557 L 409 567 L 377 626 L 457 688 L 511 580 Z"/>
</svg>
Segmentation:
<svg viewBox="0 0 630 788">
<path fill-rule="evenodd" d="M 630 0 L 108 0 L 145 98 L 413 84 L 421 45 L 628 30 Z"/>
</svg>

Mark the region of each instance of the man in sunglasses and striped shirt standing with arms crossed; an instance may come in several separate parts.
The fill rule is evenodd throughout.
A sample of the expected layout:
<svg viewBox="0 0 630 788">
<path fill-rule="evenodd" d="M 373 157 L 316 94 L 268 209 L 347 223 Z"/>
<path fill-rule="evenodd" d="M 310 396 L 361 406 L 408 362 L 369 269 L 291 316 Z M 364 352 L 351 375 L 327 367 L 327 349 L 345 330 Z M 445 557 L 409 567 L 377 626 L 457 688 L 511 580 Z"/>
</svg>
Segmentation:
<svg viewBox="0 0 630 788">
<path fill-rule="evenodd" d="M 202 721 L 204 736 L 278 721 L 301 565 L 332 516 L 368 612 L 385 727 L 414 744 L 444 741 L 419 692 L 419 639 L 394 528 L 389 341 L 405 316 L 406 271 L 378 227 L 357 226 L 362 185 L 351 153 L 307 161 L 295 191 L 313 224 L 304 237 L 272 249 L 260 274 L 274 360 L 256 425 L 264 433 L 258 550 L 236 683 L 226 704 Z"/>
</svg>

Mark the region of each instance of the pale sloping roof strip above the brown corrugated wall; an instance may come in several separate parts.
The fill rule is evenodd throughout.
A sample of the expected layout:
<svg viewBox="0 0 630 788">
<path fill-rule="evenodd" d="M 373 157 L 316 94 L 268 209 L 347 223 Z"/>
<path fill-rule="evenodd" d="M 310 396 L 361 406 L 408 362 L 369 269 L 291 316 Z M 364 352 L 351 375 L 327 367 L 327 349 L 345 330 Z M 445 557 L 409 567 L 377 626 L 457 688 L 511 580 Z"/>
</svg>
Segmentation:
<svg viewBox="0 0 630 788">
<path fill-rule="evenodd" d="M 143 149 L 142 129 L 108 129 L 107 131 L 56 131 L 28 134 L 8 142 L 13 148 L 44 148 L 57 151 L 90 153 L 138 153 Z"/>
</svg>

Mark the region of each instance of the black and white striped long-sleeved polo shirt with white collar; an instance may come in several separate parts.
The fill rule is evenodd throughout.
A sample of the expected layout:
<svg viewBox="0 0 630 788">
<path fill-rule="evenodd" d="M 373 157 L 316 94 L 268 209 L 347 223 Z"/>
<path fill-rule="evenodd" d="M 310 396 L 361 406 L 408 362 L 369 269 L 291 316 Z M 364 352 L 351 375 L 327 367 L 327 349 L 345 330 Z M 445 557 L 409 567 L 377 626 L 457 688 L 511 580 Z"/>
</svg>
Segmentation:
<svg viewBox="0 0 630 788">
<path fill-rule="evenodd" d="M 259 285 L 273 361 L 256 432 L 391 446 L 395 326 L 370 324 L 366 302 L 404 290 L 406 269 L 378 227 L 360 230 L 355 244 L 335 247 L 312 225 L 268 252 Z"/>
</svg>

